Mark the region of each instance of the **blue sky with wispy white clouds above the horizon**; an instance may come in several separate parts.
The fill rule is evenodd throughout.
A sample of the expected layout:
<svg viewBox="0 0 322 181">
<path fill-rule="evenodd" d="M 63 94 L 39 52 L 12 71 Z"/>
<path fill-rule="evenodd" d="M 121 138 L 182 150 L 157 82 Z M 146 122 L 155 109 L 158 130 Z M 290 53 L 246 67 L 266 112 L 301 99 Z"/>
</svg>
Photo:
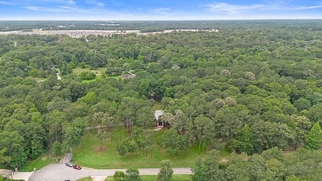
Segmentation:
<svg viewBox="0 0 322 181">
<path fill-rule="evenodd" d="M 0 0 L 0 20 L 322 19 L 322 0 Z"/>
</svg>

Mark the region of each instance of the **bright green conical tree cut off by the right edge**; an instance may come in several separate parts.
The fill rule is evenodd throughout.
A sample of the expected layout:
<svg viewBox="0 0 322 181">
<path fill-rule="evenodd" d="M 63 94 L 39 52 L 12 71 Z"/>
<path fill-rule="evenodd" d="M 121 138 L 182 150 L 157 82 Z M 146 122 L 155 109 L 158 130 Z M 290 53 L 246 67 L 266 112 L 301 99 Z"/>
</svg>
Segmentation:
<svg viewBox="0 0 322 181">
<path fill-rule="evenodd" d="M 315 123 L 311 131 L 305 137 L 304 148 L 318 150 L 322 144 L 322 131 L 319 123 Z"/>
</svg>

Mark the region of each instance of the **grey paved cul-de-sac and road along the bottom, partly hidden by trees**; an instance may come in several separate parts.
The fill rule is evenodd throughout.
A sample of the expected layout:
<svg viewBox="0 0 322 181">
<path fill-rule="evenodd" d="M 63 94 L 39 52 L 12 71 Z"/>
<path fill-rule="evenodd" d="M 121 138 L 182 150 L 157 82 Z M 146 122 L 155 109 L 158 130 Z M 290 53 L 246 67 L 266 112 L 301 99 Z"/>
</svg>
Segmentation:
<svg viewBox="0 0 322 181">
<path fill-rule="evenodd" d="M 126 169 L 86 169 L 81 170 L 68 167 L 65 163 L 55 163 L 47 165 L 35 171 L 29 181 L 61 181 L 70 179 L 71 181 L 88 176 L 112 176 L 116 170 L 126 171 Z M 157 175 L 159 168 L 140 168 L 140 175 Z M 174 168 L 174 174 L 192 174 L 190 168 Z"/>
</svg>

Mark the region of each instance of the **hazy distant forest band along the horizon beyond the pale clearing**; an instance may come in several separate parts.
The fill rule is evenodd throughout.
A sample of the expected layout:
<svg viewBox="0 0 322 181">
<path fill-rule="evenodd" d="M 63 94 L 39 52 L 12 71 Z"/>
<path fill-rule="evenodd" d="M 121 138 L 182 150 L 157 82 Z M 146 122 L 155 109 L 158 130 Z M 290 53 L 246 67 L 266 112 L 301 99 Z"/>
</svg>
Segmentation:
<svg viewBox="0 0 322 181">
<path fill-rule="evenodd" d="M 0 31 L 42 30 L 140 30 L 162 32 L 179 29 L 252 29 L 252 28 L 300 28 L 322 30 L 320 20 L 239 20 L 239 21 L 0 21 Z"/>
</svg>

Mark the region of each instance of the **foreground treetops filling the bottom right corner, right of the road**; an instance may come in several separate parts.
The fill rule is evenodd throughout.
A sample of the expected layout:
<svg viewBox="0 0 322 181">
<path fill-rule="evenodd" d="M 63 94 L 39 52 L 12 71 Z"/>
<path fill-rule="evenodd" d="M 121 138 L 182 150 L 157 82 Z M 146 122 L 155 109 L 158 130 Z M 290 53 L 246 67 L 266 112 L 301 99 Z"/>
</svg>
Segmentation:
<svg viewBox="0 0 322 181">
<path fill-rule="evenodd" d="M 319 151 L 299 148 L 292 154 L 284 154 L 274 147 L 260 155 L 233 152 L 227 162 L 220 162 L 219 154 L 219 151 L 211 150 L 205 160 L 197 159 L 191 168 L 192 180 L 318 181 L 322 176 Z"/>
</svg>

